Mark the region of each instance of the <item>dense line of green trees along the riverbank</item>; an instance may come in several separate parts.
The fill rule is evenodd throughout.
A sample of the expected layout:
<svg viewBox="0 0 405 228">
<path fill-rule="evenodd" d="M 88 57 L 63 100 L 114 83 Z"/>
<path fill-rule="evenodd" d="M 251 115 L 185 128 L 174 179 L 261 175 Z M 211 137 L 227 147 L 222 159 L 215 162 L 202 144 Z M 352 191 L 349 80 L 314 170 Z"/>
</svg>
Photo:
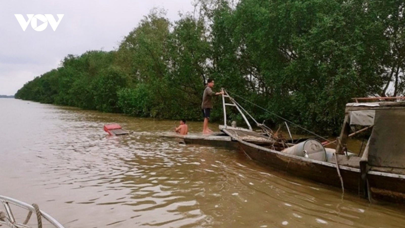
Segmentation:
<svg viewBox="0 0 405 228">
<path fill-rule="evenodd" d="M 336 134 L 351 98 L 404 94 L 404 7 L 403 0 L 200 0 L 174 22 L 153 9 L 114 51 L 68 55 L 15 97 L 201 120 L 212 77 L 217 90 Z M 260 121 L 283 121 L 237 101 Z M 214 103 L 211 119 L 222 120 Z M 229 121 L 238 118 L 229 113 Z"/>
</svg>

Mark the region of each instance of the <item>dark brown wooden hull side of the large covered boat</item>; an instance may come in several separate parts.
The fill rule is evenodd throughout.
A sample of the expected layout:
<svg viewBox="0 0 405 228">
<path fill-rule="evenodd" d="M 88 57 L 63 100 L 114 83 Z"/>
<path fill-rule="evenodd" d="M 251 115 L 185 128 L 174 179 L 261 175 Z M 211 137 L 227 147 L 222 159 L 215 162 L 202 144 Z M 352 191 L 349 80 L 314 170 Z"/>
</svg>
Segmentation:
<svg viewBox="0 0 405 228">
<path fill-rule="evenodd" d="M 266 166 L 317 183 L 341 188 L 337 168 L 333 163 L 311 161 L 301 157 L 283 155 L 280 152 L 271 151 L 243 141 L 239 141 L 238 146 L 241 153 Z M 361 179 L 360 169 L 339 166 L 339 171 L 345 191 L 348 190 L 357 193 L 359 196 L 366 196 L 367 187 Z M 405 178 L 403 175 L 369 172 L 367 180 L 370 187 L 371 200 L 405 203 Z"/>
</svg>

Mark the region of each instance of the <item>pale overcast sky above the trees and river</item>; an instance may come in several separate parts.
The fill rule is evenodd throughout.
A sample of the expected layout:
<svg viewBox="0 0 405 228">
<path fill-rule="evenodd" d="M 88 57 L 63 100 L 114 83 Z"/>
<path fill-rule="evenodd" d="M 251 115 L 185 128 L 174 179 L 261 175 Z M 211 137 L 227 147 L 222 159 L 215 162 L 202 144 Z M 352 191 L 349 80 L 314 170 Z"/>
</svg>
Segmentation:
<svg viewBox="0 0 405 228">
<path fill-rule="evenodd" d="M 192 11 L 192 0 L 37 0 L 0 2 L 0 95 L 14 95 L 26 82 L 58 67 L 68 54 L 115 49 L 143 16 L 155 7 L 171 21 Z M 55 31 L 50 24 L 25 31 L 14 14 L 64 14 Z M 37 26 L 42 22 L 39 20 Z"/>
</svg>

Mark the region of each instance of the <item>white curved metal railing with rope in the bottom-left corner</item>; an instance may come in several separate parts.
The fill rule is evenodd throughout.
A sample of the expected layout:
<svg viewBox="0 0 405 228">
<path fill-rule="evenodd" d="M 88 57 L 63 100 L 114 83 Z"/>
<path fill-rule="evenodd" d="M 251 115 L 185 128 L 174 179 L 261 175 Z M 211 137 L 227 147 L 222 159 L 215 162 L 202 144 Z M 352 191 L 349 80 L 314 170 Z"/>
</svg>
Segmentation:
<svg viewBox="0 0 405 228">
<path fill-rule="evenodd" d="M 56 219 L 45 213 L 44 211 L 41 211 L 36 204 L 27 204 L 25 202 L 6 197 L 6 196 L 0 196 L 0 202 L 3 204 L 5 212 L 0 210 L 0 226 L 1 225 L 6 225 L 11 228 L 32 228 L 32 226 L 28 226 L 28 222 L 31 218 L 32 213 L 36 214 L 36 220 L 37 220 L 37 227 L 42 228 L 42 218 L 47 220 L 53 227 L 55 228 L 64 228 L 62 224 L 60 224 Z M 19 223 L 16 221 L 13 211 L 11 210 L 10 205 L 15 205 L 20 208 L 28 210 L 28 215 L 25 219 L 24 222 Z"/>
</svg>

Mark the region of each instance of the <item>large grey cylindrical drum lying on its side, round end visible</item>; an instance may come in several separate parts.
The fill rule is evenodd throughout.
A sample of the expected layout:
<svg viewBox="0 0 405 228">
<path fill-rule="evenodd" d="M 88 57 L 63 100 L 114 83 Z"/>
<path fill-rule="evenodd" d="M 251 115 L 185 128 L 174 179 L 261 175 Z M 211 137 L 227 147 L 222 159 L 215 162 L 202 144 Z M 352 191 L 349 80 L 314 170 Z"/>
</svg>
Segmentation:
<svg viewBox="0 0 405 228">
<path fill-rule="evenodd" d="M 294 146 L 286 148 L 283 153 L 306 157 L 317 161 L 326 161 L 326 151 L 324 146 L 315 139 L 309 139 L 305 142 L 300 142 Z"/>
</svg>

